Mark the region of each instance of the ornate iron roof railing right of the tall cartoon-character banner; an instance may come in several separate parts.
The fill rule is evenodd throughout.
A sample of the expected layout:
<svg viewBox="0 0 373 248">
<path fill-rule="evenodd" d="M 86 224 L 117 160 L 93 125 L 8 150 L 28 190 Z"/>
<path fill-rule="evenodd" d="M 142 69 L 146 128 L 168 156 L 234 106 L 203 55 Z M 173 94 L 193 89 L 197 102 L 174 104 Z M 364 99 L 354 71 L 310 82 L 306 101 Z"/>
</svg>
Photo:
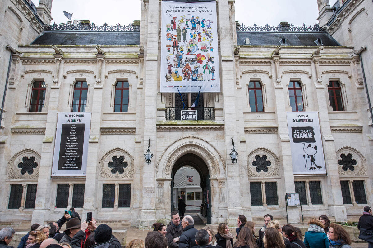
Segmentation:
<svg viewBox="0 0 373 248">
<path fill-rule="evenodd" d="M 320 32 L 322 28 L 319 24 L 314 26 L 307 26 L 303 23 L 302 26 L 294 26 L 292 23 L 288 25 L 269 26 L 268 23 L 264 27 L 258 26 L 254 23 L 253 26 L 245 26 L 243 23 L 236 26 L 236 31 L 249 31 L 249 32 Z"/>
</svg>

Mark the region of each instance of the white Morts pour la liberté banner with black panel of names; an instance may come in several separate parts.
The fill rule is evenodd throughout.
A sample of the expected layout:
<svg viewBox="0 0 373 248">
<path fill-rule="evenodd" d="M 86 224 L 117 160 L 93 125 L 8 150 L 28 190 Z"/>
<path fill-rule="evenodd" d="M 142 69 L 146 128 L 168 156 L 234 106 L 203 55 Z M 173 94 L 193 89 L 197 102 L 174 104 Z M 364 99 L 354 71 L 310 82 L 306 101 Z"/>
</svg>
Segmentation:
<svg viewBox="0 0 373 248">
<path fill-rule="evenodd" d="M 52 177 L 86 175 L 90 128 L 91 113 L 58 113 Z"/>
</svg>

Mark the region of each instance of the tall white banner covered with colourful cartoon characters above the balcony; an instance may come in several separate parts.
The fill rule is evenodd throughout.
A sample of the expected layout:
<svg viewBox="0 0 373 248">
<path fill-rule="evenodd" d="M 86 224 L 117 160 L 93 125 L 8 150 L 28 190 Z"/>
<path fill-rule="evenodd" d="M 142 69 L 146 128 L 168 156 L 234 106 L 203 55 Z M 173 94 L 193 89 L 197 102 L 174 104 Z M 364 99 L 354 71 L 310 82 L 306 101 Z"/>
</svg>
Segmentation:
<svg viewBox="0 0 373 248">
<path fill-rule="evenodd" d="M 220 92 L 215 1 L 162 1 L 161 46 L 161 92 Z"/>
</svg>

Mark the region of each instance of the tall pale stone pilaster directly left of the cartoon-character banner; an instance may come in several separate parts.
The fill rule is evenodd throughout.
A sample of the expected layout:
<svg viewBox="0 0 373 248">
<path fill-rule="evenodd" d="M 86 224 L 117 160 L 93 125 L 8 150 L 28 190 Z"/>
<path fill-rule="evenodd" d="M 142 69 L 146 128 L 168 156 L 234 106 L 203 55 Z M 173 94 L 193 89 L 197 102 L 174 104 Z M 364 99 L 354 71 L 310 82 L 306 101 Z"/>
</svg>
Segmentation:
<svg viewBox="0 0 373 248">
<path fill-rule="evenodd" d="M 140 228 L 150 226 L 156 220 L 156 192 L 155 188 L 155 164 L 156 164 L 156 119 L 157 119 L 157 78 L 158 74 L 158 31 L 160 25 L 159 19 L 159 1 L 149 0 L 147 5 L 148 11 L 148 30 L 147 41 L 144 52 L 144 136 L 142 150 L 148 149 L 150 137 L 150 149 L 154 155 L 150 164 L 145 164 L 145 158 L 139 160 L 139 166 L 142 166 L 142 209 L 140 216 Z M 148 190 L 145 191 L 145 187 Z"/>
</svg>

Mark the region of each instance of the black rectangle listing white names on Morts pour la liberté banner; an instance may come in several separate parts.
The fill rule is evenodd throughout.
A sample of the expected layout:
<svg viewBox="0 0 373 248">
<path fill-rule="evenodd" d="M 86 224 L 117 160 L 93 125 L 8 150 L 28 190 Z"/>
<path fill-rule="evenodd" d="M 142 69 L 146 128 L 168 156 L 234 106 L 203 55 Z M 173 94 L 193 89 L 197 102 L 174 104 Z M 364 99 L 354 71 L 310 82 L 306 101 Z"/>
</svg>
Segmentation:
<svg viewBox="0 0 373 248">
<path fill-rule="evenodd" d="M 85 124 L 62 124 L 59 170 L 80 170 Z"/>
</svg>

